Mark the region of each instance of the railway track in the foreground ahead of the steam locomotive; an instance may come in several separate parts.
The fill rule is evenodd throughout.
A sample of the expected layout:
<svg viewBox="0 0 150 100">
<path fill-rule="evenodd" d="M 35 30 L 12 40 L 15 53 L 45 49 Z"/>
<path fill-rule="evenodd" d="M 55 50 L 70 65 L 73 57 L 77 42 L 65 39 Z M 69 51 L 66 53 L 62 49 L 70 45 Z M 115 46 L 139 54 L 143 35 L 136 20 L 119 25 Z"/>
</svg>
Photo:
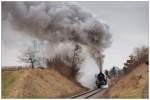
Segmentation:
<svg viewBox="0 0 150 100">
<path fill-rule="evenodd" d="M 74 95 L 71 98 L 73 98 L 73 99 L 91 98 L 92 96 L 96 95 L 97 93 L 99 93 L 102 90 L 103 89 L 89 90 L 89 91 L 83 92 L 81 94 Z"/>
</svg>

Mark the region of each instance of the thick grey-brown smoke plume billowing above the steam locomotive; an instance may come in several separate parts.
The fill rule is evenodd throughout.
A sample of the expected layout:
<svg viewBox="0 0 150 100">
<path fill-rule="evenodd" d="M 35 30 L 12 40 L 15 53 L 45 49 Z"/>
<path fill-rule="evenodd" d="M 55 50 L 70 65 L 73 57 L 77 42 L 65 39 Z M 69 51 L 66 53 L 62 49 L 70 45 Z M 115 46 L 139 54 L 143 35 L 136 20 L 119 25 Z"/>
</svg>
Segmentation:
<svg viewBox="0 0 150 100">
<path fill-rule="evenodd" d="M 3 2 L 2 19 L 8 20 L 15 30 L 48 41 L 50 47 L 66 42 L 85 46 L 89 50 L 85 51 L 86 60 L 81 66 L 89 66 L 91 62 L 90 67 L 93 69 L 98 66 L 91 51 L 99 51 L 102 55 L 103 50 L 110 44 L 108 26 L 76 3 Z M 84 67 L 79 72 L 85 72 L 88 67 L 87 70 L 81 69 Z M 88 84 L 83 78 L 80 82 L 83 85 Z"/>
</svg>

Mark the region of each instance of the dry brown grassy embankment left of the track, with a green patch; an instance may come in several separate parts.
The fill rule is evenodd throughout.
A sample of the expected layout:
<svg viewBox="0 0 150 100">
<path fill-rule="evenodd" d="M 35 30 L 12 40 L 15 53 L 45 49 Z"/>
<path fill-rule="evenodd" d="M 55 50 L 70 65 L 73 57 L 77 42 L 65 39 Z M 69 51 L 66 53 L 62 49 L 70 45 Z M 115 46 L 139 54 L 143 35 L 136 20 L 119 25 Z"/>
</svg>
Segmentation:
<svg viewBox="0 0 150 100">
<path fill-rule="evenodd" d="M 2 71 L 2 98 L 59 98 L 84 90 L 54 69 Z"/>
</svg>

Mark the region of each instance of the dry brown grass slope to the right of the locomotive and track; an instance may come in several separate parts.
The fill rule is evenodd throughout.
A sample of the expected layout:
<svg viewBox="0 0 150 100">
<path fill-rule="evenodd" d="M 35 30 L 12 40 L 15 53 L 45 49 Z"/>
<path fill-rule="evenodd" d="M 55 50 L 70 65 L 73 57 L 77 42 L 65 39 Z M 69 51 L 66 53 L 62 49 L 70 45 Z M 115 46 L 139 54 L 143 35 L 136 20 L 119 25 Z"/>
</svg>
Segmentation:
<svg viewBox="0 0 150 100">
<path fill-rule="evenodd" d="M 107 98 L 148 98 L 148 66 L 138 66 L 104 95 Z"/>
</svg>

